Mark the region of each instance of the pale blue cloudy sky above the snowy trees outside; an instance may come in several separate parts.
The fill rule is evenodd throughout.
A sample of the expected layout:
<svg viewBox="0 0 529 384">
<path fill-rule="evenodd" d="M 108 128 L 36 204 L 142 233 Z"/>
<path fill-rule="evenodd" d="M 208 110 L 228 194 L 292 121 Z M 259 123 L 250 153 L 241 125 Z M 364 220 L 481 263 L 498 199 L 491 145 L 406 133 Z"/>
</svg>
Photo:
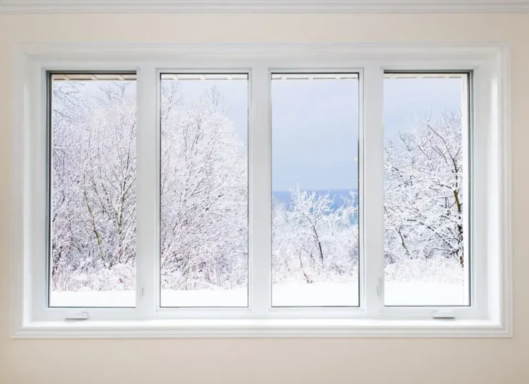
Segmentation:
<svg viewBox="0 0 529 384">
<path fill-rule="evenodd" d="M 179 81 L 186 103 L 215 85 L 247 144 L 247 81 Z M 273 190 L 357 188 L 358 81 L 273 80 Z M 386 79 L 384 132 L 391 137 L 415 118 L 461 108 L 460 79 Z M 368 128 L 369 129 L 369 128 Z"/>
</svg>

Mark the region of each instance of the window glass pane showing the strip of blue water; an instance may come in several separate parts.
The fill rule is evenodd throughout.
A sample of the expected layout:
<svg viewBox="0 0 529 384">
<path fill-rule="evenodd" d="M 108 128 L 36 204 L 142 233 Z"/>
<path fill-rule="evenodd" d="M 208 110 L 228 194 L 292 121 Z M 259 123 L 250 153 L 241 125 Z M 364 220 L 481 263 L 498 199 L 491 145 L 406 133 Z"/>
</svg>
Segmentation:
<svg viewBox="0 0 529 384">
<path fill-rule="evenodd" d="M 271 82 L 272 305 L 358 305 L 358 76 Z"/>
</svg>

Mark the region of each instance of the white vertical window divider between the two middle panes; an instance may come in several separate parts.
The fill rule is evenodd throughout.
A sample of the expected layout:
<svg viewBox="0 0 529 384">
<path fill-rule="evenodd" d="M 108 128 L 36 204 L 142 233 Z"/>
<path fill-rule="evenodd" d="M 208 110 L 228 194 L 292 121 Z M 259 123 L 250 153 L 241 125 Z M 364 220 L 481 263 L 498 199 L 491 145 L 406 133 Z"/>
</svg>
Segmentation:
<svg viewBox="0 0 529 384">
<path fill-rule="evenodd" d="M 249 307 L 267 317 L 271 307 L 271 122 L 270 73 L 255 66 L 249 101 Z"/>
</svg>

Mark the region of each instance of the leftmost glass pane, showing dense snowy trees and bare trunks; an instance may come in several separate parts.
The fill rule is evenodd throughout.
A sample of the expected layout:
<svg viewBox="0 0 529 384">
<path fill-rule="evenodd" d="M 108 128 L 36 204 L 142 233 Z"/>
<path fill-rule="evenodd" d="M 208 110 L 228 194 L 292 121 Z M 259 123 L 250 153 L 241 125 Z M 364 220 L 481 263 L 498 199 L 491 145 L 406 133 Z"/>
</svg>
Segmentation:
<svg viewBox="0 0 529 384">
<path fill-rule="evenodd" d="M 136 75 L 52 74 L 52 307 L 134 307 Z"/>
</svg>

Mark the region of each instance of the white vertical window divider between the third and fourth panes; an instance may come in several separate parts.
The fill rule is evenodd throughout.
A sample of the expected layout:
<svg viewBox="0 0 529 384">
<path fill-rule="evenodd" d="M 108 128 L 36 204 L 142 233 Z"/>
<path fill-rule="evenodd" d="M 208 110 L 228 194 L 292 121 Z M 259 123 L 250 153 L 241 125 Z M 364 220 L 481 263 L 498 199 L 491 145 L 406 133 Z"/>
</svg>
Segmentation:
<svg viewBox="0 0 529 384">
<path fill-rule="evenodd" d="M 363 72 L 360 82 L 363 249 L 360 251 L 361 263 L 364 262 L 363 306 L 368 316 L 376 316 L 384 309 L 384 70 L 373 64 L 367 65 Z"/>
</svg>

